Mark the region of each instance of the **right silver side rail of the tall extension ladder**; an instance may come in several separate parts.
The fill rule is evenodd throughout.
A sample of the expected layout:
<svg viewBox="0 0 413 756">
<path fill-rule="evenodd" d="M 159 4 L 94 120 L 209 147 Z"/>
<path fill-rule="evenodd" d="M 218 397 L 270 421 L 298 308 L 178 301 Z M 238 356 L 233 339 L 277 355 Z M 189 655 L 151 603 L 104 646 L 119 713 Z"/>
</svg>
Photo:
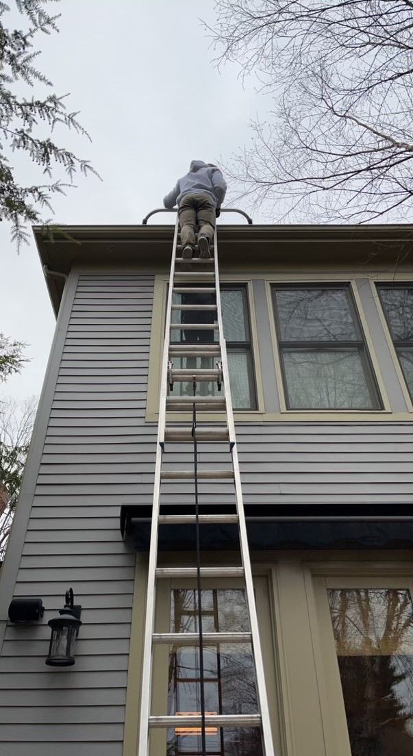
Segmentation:
<svg viewBox="0 0 413 756">
<path fill-rule="evenodd" d="M 231 386 L 229 383 L 228 355 L 226 342 L 224 338 L 224 327 L 222 321 L 221 291 L 219 287 L 219 263 L 218 263 L 218 241 L 216 229 L 214 231 L 214 267 L 216 276 L 216 310 L 217 321 L 219 326 L 219 344 L 221 346 L 222 375 L 225 389 L 225 404 L 227 424 L 234 468 L 234 488 L 235 501 L 238 514 L 238 528 L 240 534 L 241 560 L 244 567 L 245 592 L 247 598 L 247 609 L 250 619 L 250 631 L 253 639 L 253 659 L 256 674 L 256 695 L 258 699 L 259 712 L 261 714 L 262 739 L 265 756 L 275 756 L 274 745 L 272 742 L 271 721 L 269 717 L 269 705 L 266 695 L 264 662 L 262 660 L 261 643 L 259 640 L 258 617 L 256 614 L 255 595 L 253 587 L 253 572 L 251 569 L 250 550 L 248 546 L 247 524 L 245 522 L 244 500 L 241 488 L 241 473 L 238 460 L 237 439 L 235 435 L 234 413 L 232 411 Z"/>
</svg>

